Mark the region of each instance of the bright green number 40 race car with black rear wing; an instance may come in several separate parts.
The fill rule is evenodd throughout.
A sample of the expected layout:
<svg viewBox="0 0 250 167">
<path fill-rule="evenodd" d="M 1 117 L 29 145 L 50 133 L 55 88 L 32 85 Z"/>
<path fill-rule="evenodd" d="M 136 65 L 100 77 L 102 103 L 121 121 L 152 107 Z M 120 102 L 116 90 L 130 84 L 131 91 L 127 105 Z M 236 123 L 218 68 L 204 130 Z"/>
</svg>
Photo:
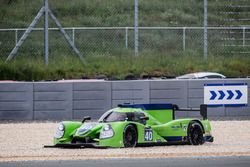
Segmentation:
<svg viewBox="0 0 250 167">
<path fill-rule="evenodd" d="M 176 111 L 200 111 L 203 119 L 175 119 Z M 124 104 L 105 112 L 98 122 L 61 122 L 54 145 L 45 147 L 135 147 L 213 142 L 207 106 L 179 109 L 173 104 Z"/>
</svg>

